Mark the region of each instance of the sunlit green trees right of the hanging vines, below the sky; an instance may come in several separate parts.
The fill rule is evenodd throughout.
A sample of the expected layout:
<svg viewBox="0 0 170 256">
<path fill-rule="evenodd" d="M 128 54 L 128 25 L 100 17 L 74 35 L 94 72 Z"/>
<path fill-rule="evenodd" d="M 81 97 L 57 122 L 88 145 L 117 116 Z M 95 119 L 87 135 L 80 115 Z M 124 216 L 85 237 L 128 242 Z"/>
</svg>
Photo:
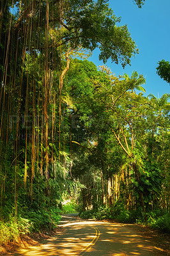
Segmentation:
<svg viewBox="0 0 170 256">
<path fill-rule="evenodd" d="M 88 144 L 77 138 L 79 145 L 89 151 L 84 154 L 81 150 L 83 154 L 79 152 L 78 157 L 76 150 L 72 168 L 73 177 L 80 179 L 86 187 L 81 189 L 79 196 L 84 211 L 102 205 L 101 198 L 107 196 L 108 177 L 113 179 L 111 193 L 114 193 L 114 174 L 118 173 L 118 179 L 121 179 L 121 172 L 124 180 L 118 184 L 119 200 L 125 202 L 130 198 L 132 209 L 143 207 L 143 212 L 155 209 L 161 200 L 162 185 L 167 184 L 168 174 L 165 171 L 165 178 L 162 172 L 164 168 L 167 170 L 168 163 L 166 167 L 160 166 L 158 159 L 167 151 L 164 150 L 167 147 L 164 136 L 168 129 L 169 95 L 165 94 L 158 100 L 151 95 L 151 99 L 148 99 L 150 96 L 143 97 L 142 93 L 137 95 L 135 90 L 144 92 L 141 84 L 145 83 L 144 77 L 137 72 L 131 77 L 127 74 L 115 77 L 109 68 L 102 66 L 97 70 L 87 60 L 73 60 L 71 67 L 66 78 L 69 79 L 68 89 L 77 104 L 79 120 L 84 122 L 79 122 L 74 132 L 82 127 L 84 134 L 88 134 L 88 138 L 86 135 L 84 138 L 89 140 Z M 76 94 L 77 88 L 79 95 Z M 102 170 L 103 184 L 101 173 L 97 172 L 93 177 L 95 170 Z M 112 195 L 113 202 L 115 197 Z M 134 221 L 131 213 L 126 212 L 126 215 L 127 220 L 132 218 Z"/>
</svg>

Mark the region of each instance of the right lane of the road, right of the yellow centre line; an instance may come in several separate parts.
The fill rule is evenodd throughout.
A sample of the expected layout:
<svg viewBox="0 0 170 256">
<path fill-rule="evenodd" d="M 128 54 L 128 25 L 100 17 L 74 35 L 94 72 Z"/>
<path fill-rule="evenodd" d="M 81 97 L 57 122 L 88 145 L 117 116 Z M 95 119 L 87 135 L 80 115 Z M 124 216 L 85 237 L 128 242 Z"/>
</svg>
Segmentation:
<svg viewBox="0 0 170 256">
<path fill-rule="evenodd" d="M 148 256 L 153 251 L 148 241 L 141 239 L 123 224 L 94 221 L 93 225 L 100 230 L 100 239 L 84 255 Z"/>
</svg>

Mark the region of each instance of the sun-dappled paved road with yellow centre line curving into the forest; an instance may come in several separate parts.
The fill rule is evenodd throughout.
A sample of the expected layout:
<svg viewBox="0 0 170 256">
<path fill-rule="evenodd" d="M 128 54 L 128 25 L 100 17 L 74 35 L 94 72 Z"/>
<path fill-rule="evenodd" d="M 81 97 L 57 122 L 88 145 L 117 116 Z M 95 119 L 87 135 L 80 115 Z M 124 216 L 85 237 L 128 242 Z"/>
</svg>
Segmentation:
<svg viewBox="0 0 170 256">
<path fill-rule="evenodd" d="M 31 246 L 14 256 L 154 256 L 149 241 L 123 224 L 81 220 L 65 215 L 60 223 L 65 232 L 47 244 Z"/>
</svg>

